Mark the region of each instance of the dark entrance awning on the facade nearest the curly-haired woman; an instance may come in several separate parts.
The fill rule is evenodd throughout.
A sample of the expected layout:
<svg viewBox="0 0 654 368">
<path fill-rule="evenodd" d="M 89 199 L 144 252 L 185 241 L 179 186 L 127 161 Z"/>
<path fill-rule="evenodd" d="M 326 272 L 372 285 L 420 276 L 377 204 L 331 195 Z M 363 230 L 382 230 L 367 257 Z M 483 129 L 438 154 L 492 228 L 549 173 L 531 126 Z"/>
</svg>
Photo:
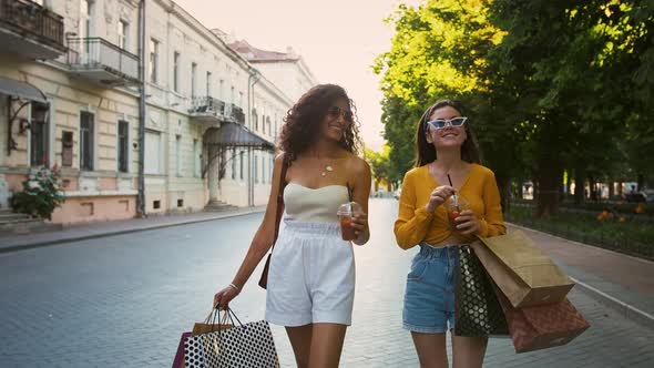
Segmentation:
<svg viewBox="0 0 654 368">
<path fill-rule="evenodd" d="M 204 133 L 204 143 L 229 147 L 258 147 L 275 150 L 275 144 L 257 135 L 244 125 L 223 123 L 221 127 L 211 127 Z"/>
</svg>

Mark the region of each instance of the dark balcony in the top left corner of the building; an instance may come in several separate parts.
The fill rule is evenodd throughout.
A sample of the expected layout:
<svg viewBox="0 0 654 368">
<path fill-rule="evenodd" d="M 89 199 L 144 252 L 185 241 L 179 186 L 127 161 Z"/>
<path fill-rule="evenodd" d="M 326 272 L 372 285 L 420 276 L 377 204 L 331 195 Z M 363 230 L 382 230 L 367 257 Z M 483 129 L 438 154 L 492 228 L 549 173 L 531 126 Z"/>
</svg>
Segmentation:
<svg viewBox="0 0 654 368">
<path fill-rule="evenodd" d="M 63 17 L 29 0 L 0 0 L 0 44 L 27 59 L 65 53 Z"/>
</svg>

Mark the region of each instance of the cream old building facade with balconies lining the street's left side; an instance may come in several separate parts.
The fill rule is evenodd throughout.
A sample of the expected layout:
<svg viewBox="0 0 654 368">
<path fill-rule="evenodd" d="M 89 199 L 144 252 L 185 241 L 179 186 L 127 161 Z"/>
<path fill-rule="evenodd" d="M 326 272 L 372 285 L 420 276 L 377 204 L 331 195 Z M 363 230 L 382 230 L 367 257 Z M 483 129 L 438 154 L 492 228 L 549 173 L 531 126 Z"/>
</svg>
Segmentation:
<svg viewBox="0 0 654 368">
<path fill-rule="evenodd" d="M 54 164 L 55 223 L 267 202 L 296 91 L 170 0 L 0 6 L 0 206 Z"/>
</svg>

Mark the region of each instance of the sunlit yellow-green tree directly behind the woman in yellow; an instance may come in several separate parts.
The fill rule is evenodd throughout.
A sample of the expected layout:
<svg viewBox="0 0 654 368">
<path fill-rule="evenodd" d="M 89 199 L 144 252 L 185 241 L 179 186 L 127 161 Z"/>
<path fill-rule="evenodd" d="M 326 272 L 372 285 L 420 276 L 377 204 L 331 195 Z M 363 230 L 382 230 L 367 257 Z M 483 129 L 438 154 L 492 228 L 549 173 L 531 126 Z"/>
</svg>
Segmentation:
<svg viewBox="0 0 654 368">
<path fill-rule="evenodd" d="M 387 19 L 396 34 L 391 49 L 376 59 L 374 70 L 382 74 L 382 122 L 391 165 L 402 175 L 413 163 L 416 123 L 430 104 L 444 98 L 460 99 L 470 108 L 482 151 L 491 152 L 489 161 L 510 162 L 495 159 L 495 154 L 512 155 L 494 146 L 498 141 L 512 141 L 512 130 L 484 115 L 491 111 L 484 96 L 489 85 L 486 54 L 503 35 L 488 20 L 489 3 L 427 1 L 418 8 L 400 6 Z M 505 166 L 499 171 L 509 177 Z"/>
</svg>

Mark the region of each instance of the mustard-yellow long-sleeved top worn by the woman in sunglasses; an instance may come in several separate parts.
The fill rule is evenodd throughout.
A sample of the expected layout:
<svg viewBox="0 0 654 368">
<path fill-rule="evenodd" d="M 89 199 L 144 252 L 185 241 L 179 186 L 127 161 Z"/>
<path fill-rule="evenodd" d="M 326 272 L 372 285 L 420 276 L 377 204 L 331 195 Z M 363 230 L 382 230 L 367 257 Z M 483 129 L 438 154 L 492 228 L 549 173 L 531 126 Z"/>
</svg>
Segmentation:
<svg viewBox="0 0 654 368">
<path fill-rule="evenodd" d="M 429 174 L 429 165 L 412 168 L 405 175 L 400 208 L 395 222 L 395 237 L 402 249 L 411 248 L 420 242 L 438 244 L 450 235 L 464 241 L 474 239 L 473 236 L 461 235 L 450 228 L 444 205 L 438 206 L 432 214 L 425 211 L 431 192 L 439 185 L 442 184 L 437 183 Z M 502 219 L 500 191 L 490 168 L 472 164 L 458 193 L 468 198 L 470 209 L 479 218 L 480 236 L 490 237 L 507 232 Z"/>
</svg>

